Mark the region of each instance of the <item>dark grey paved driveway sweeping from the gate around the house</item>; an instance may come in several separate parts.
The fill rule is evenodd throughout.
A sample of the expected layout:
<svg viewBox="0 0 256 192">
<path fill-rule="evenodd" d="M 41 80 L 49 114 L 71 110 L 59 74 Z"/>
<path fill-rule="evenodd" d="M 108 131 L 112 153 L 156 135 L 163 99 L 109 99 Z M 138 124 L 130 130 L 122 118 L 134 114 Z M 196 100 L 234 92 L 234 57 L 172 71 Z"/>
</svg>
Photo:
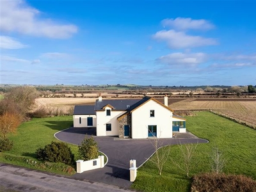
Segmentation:
<svg viewBox="0 0 256 192">
<path fill-rule="evenodd" d="M 80 145 L 84 136 L 95 135 L 95 128 L 70 128 L 55 134 L 61 141 Z M 119 139 L 111 136 L 93 136 L 97 141 L 99 150 L 108 156 L 108 164 L 102 169 L 83 173 L 76 173 L 75 179 L 104 182 L 122 188 L 129 188 L 130 182 L 129 161 L 136 159 L 137 167 L 140 167 L 154 154 L 151 139 L 132 140 Z M 197 138 L 191 133 L 177 134 L 177 138 L 161 139 L 159 143 L 164 145 L 175 145 L 179 143 L 207 143 L 207 140 Z"/>
</svg>

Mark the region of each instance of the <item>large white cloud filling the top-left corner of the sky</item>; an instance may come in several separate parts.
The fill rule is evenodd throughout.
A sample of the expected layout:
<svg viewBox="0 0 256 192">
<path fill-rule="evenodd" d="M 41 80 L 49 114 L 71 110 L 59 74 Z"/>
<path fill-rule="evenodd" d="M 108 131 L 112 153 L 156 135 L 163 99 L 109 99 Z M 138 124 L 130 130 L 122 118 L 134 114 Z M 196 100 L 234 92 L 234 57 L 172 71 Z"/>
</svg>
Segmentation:
<svg viewBox="0 0 256 192">
<path fill-rule="evenodd" d="M 77 32 L 75 25 L 39 18 L 40 12 L 24 1 L 1 1 L 0 14 L 1 31 L 48 38 L 68 38 Z"/>
</svg>

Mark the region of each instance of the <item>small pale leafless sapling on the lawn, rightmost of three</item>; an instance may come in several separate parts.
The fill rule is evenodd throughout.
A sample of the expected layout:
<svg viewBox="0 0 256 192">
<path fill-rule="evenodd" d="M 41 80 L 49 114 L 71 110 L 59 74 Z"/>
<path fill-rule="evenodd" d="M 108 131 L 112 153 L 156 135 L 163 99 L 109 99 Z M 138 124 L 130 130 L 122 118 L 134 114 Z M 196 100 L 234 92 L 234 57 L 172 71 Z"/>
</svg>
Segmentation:
<svg viewBox="0 0 256 192">
<path fill-rule="evenodd" d="M 211 165 L 212 172 L 217 173 L 217 174 L 221 173 L 224 168 L 225 159 L 218 147 L 214 147 L 212 149 L 210 165 Z"/>
</svg>

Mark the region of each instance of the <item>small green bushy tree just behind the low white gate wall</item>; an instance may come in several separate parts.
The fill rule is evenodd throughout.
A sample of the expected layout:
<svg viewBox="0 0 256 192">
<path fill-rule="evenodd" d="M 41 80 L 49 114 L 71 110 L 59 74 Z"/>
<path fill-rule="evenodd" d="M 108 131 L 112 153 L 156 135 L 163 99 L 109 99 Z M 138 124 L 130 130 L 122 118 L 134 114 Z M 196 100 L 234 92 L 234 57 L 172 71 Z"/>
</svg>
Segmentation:
<svg viewBox="0 0 256 192">
<path fill-rule="evenodd" d="M 93 137 L 85 137 L 81 145 L 78 146 L 79 158 L 84 161 L 96 159 L 99 156 L 98 150 L 98 144 Z"/>
</svg>

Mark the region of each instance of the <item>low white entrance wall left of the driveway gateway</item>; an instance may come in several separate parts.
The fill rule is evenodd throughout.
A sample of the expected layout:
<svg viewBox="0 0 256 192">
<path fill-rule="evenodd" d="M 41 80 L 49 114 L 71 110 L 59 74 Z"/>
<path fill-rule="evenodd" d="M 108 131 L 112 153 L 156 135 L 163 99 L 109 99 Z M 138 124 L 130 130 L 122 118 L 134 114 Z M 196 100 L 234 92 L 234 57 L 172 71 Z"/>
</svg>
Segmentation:
<svg viewBox="0 0 256 192">
<path fill-rule="evenodd" d="M 104 168 L 104 156 L 99 156 L 98 159 L 92 159 L 89 161 L 77 160 L 76 172 L 83 173 L 89 170 L 95 170 L 98 168 Z"/>
</svg>

